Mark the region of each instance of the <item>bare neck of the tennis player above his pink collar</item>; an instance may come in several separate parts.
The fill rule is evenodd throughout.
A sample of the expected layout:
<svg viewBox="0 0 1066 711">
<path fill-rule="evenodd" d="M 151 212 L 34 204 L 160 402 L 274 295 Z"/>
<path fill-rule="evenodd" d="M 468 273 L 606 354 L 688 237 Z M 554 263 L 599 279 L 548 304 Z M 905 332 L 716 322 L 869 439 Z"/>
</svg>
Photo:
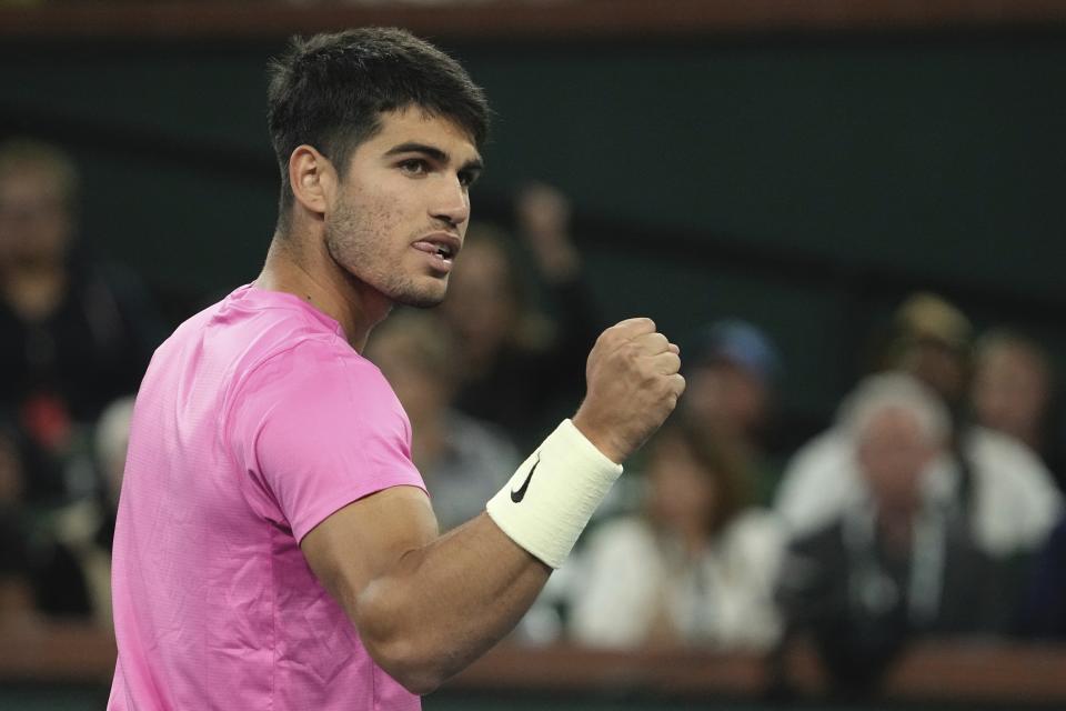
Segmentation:
<svg viewBox="0 0 1066 711">
<path fill-rule="evenodd" d="M 311 303 L 341 324 L 348 342 L 360 353 L 371 329 L 392 309 L 389 299 L 333 260 L 324 239 L 301 239 L 295 233 L 274 233 L 255 286 Z"/>
</svg>

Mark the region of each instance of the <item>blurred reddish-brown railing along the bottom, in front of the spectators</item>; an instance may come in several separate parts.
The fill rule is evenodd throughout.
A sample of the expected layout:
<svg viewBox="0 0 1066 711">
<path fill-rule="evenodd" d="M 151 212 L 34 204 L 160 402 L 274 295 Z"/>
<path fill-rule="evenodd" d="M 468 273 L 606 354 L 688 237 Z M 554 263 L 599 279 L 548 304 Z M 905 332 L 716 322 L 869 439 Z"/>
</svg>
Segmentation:
<svg viewBox="0 0 1066 711">
<path fill-rule="evenodd" d="M 99 683 L 114 669 L 114 640 L 97 628 L 27 625 L 0 633 L 0 683 Z M 809 649 L 785 660 L 801 697 L 826 692 Z M 762 657 L 691 651 L 604 652 L 574 647 L 503 644 L 452 679 L 440 693 L 524 693 L 623 698 L 764 698 L 775 682 Z M 893 702 L 1044 704 L 1066 708 L 1066 647 L 926 642 L 888 674 Z"/>
</svg>

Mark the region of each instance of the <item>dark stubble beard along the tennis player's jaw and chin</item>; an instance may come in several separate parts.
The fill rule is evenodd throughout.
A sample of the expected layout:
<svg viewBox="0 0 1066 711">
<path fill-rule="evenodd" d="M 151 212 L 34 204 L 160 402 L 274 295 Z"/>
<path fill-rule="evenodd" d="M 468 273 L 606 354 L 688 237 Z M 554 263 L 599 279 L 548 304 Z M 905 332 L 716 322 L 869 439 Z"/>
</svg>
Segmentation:
<svg viewBox="0 0 1066 711">
<path fill-rule="evenodd" d="M 325 226 L 325 247 L 330 257 L 352 280 L 370 287 L 393 303 L 416 309 L 439 306 L 444 301 L 446 281 L 439 288 L 421 287 L 401 272 L 400 264 L 392 262 L 382 250 L 382 244 L 390 243 L 388 228 L 380 227 L 383 224 L 388 226 L 388 220 L 375 222 L 350 204 L 339 206 L 333 220 Z"/>
</svg>

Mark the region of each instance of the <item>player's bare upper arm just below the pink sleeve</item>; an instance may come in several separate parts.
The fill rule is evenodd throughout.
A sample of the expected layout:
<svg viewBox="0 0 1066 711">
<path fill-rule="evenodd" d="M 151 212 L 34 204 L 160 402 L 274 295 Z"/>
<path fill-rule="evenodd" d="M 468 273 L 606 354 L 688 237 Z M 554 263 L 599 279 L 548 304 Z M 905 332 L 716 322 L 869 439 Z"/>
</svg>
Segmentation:
<svg viewBox="0 0 1066 711">
<path fill-rule="evenodd" d="M 416 487 L 392 487 L 326 517 L 301 541 L 319 581 L 354 617 L 360 594 L 408 552 L 439 535 L 430 499 Z"/>
</svg>

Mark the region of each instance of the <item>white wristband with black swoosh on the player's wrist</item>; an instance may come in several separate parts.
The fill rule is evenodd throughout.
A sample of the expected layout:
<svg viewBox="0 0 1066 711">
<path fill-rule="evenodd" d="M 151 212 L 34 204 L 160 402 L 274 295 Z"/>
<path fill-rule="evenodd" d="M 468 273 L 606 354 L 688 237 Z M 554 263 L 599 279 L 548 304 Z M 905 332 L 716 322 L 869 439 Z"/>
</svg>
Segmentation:
<svg viewBox="0 0 1066 711">
<path fill-rule="evenodd" d="M 621 464 L 563 420 L 485 509 L 515 543 L 559 568 L 621 474 Z"/>
</svg>

